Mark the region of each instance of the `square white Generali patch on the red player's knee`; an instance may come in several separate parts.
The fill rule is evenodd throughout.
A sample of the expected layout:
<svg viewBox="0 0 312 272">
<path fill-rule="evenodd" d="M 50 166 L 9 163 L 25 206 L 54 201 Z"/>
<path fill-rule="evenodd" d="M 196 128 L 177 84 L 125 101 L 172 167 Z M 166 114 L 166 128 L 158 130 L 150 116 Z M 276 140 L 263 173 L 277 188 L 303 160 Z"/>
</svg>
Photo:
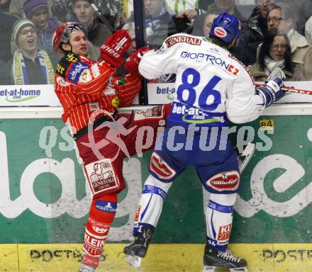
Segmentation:
<svg viewBox="0 0 312 272">
<path fill-rule="evenodd" d="M 111 191 L 114 188 L 118 189 L 120 186 L 110 159 L 91 162 L 91 164 L 84 166 L 84 171 L 94 195 Z"/>
</svg>

